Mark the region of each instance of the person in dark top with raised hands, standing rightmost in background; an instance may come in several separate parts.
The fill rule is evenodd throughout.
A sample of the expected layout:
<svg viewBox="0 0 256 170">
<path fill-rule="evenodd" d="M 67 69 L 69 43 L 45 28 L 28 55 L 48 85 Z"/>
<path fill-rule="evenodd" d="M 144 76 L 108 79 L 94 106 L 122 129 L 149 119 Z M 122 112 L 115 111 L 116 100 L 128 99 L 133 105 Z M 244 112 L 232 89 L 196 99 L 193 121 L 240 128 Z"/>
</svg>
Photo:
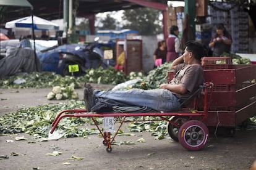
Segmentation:
<svg viewBox="0 0 256 170">
<path fill-rule="evenodd" d="M 223 52 L 230 53 L 232 42 L 231 35 L 223 23 L 216 25 L 216 34 L 211 38 L 209 43 L 209 47 L 213 49 L 213 57 L 221 56 Z"/>
</svg>

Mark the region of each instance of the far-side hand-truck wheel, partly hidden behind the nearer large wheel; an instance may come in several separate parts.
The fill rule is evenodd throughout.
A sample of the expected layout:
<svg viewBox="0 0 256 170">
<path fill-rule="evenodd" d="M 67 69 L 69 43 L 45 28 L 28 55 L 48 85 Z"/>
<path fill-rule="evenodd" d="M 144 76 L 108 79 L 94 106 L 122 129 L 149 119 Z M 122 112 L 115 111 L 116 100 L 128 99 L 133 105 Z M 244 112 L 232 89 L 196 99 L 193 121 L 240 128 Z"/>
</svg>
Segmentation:
<svg viewBox="0 0 256 170">
<path fill-rule="evenodd" d="M 187 117 L 172 116 L 169 120 L 176 124 L 179 124 L 179 127 L 181 127 L 181 125 L 187 121 Z M 168 123 L 168 134 L 176 142 L 179 142 L 179 137 L 178 137 L 179 127 L 175 126 L 174 124 Z"/>
</svg>

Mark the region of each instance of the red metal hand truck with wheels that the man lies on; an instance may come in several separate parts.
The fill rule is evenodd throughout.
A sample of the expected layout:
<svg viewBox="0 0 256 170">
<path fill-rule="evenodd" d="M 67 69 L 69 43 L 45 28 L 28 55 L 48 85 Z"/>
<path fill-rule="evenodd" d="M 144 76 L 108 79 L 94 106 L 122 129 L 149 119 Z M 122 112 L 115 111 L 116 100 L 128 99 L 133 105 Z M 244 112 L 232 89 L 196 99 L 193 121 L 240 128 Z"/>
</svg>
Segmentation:
<svg viewBox="0 0 256 170">
<path fill-rule="evenodd" d="M 168 132 L 174 140 L 179 140 L 181 145 L 188 150 L 200 150 L 204 147 L 208 140 L 208 129 L 207 126 L 203 123 L 207 119 L 207 112 L 209 108 L 209 99 L 211 89 L 213 87 L 212 83 L 204 83 L 200 88 L 200 97 L 203 97 L 204 107 L 203 110 L 197 111 L 197 100 L 200 98 L 195 97 L 193 100 L 194 109 L 191 111 L 189 108 L 182 108 L 179 111 L 172 111 L 172 112 L 163 112 L 163 111 L 156 111 L 156 112 L 148 112 L 148 113 L 92 113 L 87 112 L 86 109 L 72 109 L 72 110 L 63 110 L 54 119 L 53 123 L 51 124 L 52 129 L 50 133 L 52 134 L 53 131 L 59 124 L 62 118 L 69 118 L 69 117 L 87 117 L 91 118 L 95 126 L 97 127 L 98 131 L 100 131 L 101 136 L 103 137 L 103 144 L 107 146 L 106 151 L 111 152 L 115 137 L 117 136 L 117 132 L 122 127 L 122 124 L 132 122 L 132 121 L 168 121 Z M 203 94 L 203 95 L 202 95 Z M 141 116 L 142 119 L 140 120 L 127 120 L 127 117 L 131 116 Z M 147 118 L 146 118 L 147 116 Z M 149 117 L 157 117 L 158 119 L 149 119 Z M 173 118 L 175 116 L 175 118 Z M 101 129 L 99 124 L 95 118 L 115 118 L 114 124 L 119 122 L 119 126 L 117 127 L 116 131 L 106 131 L 106 127 Z M 181 121 L 185 119 L 186 123 L 183 124 Z M 174 132 L 173 129 L 176 128 L 177 131 Z M 111 132 L 113 132 L 113 137 L 111 137 Z M 192 140 L 193 142 L 190 142 Z"/>
</svg>

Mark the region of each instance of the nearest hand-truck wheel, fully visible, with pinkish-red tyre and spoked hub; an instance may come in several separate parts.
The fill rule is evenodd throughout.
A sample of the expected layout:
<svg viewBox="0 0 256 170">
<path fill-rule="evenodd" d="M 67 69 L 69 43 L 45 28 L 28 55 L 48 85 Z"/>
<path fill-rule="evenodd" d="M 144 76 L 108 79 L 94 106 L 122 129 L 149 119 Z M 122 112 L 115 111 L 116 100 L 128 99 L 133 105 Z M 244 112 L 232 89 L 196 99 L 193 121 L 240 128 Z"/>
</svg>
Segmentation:
<svg viewBox="0 0 256 170">
<path fill-rule="evenodd" d="M 208 139 L 208 129 L 201 121 L 190 120 L 179 128 L 179 142 L 188 150 L 200 150 Z"/>
</svg>

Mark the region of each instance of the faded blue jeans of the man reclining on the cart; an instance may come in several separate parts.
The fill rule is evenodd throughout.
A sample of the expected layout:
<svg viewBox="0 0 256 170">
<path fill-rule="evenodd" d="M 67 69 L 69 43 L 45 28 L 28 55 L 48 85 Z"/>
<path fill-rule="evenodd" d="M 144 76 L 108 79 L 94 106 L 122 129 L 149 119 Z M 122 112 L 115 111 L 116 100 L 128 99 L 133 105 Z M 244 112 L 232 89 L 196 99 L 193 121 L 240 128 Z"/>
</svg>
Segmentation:
<svg viewBox="0 0 256 170">
<path fill-rule="evenodd" d="M 149 107 L 157 111 L 177 111 L 179 99 L 167 89 L 130 89 L 127 91 L 94 91 L 95 102 L 109 101 L 140 107 Z"/>
</svg>

